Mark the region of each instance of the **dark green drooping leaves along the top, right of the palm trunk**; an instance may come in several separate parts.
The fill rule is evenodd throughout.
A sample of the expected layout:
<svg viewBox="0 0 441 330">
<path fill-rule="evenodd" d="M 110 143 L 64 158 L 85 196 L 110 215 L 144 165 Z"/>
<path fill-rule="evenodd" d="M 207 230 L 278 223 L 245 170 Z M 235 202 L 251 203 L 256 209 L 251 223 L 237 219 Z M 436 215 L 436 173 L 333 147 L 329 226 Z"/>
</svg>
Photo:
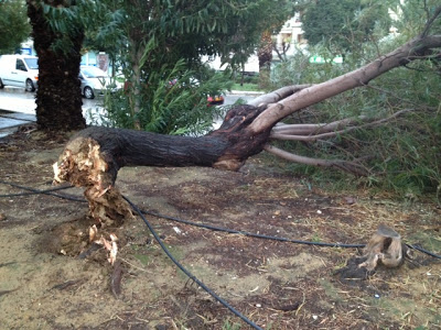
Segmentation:
<svg viewBox="0 0 441 330">
<path fill-rule="evenodd" d="M 123 54 L 150 43 L 161 63 L 184 59 L 191 66 L 197 66 L 201 55 L 240 65 L 256 51 L 262 32 L 280 29 L 292 12 L 289 0 L 103 2 L 109 12 L 97 18 L 98 29 L 86 31 L 86 47 Z M 144 65 L 158 69 L 153 53 Z"/>
</svg>

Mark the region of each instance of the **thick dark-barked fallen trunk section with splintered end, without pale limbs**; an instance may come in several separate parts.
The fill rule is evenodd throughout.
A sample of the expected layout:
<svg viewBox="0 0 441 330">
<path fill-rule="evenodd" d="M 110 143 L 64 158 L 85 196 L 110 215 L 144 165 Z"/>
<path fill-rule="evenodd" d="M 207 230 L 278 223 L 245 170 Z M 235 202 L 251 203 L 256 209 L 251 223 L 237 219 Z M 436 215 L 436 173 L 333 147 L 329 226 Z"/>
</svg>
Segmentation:
<svg viewBox="0 0 441 330">
<path fill-rule="evenodd" d="M 114 184 L 122 166 L 212 166 L 237 170 L 262 151 L 271 129 L 252 134 L 248 125 L 262 108 L 230 109 L 223 125 L 201 136 L 162 135 L 133 130 L 88 128 L 75 135 L 54 165 L 55 182 L 85 187 L 97 222 L 121 223 L 130 208 Z"/>
</svg>

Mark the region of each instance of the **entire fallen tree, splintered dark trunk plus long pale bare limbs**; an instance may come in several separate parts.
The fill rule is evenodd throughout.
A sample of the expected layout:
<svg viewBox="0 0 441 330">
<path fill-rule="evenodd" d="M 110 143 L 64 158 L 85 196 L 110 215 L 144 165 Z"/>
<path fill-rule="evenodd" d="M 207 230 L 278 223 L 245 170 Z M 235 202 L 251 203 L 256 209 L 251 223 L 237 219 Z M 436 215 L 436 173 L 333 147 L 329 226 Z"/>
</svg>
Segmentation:
<svg viewBox="0 0 441 330">
<path fill-rule="evenodd" d="M 434 18 L 441 13 L 437 9 Z M 222 127 L 201 138 L 161 135 L 141 131 L 88 128 L 78 132 L 65 146 L 54 165 L 55 180 L 85 187 L 93 217 L 98 222 L 121 222 L 130 216 L 129 206 L 115 188 L 118 170 L 123 166 L 212 166 L 237 170 L 244 162 L 268 151 L 295 162 L 333 166 L 356 175 L 367 170 L 354 162 L 315 160 L 290 154 L 271 146 L 271 139 L 320 139 L 354 130 L 364 118 L 310 125 L 282 125 L 288 116 L 342 94 L 364 87 L 376 77 L 433 56 L 441 47 L 441 35 L 428 35 L 434 18 L 423 33 L 376 61 L 334 79 L 316 84 L 289 86 L 230 109 Z M 396 113 L 395 116 L 399 116 Z M 378 119 L 368 124 L 379 124 Z"/>
</svg>

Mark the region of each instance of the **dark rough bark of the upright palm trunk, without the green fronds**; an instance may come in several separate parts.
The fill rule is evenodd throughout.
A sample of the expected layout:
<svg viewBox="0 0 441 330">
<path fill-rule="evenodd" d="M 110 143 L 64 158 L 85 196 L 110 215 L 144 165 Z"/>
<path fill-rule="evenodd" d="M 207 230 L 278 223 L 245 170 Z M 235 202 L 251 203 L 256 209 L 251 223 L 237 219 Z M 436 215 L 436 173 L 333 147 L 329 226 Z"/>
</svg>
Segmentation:
<svg viewBox="0 0 441 330">
<path fill-rule="evenodd" d="M 36 90 L 36 123 L 49 131 L 84 129 L 80 82 L 78 79 L 84 33 L 72 37 L 72 45 L 63 52 L 54 51 L 54 44 L 63 36 L 54 33 L 43 14 L 42 3 L 62 7 L 66 1 L 26 0 L 28 15 L 32 24 L 34 47 L 39 56 L 39 88 Z"/>
</svg>

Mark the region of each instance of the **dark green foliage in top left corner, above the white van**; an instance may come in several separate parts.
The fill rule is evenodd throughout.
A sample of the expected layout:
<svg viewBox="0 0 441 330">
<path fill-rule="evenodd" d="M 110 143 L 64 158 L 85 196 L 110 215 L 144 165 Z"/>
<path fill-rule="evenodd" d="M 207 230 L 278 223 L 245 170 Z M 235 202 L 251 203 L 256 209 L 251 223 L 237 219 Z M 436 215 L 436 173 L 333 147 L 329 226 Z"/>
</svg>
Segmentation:
<svg viewBox="0 0 441 330">
<path fill-rule="evenodd" d="M 14 53 L 30 36 L 24 1 L 0 0 L 0 55 Z"/>
</svg>

